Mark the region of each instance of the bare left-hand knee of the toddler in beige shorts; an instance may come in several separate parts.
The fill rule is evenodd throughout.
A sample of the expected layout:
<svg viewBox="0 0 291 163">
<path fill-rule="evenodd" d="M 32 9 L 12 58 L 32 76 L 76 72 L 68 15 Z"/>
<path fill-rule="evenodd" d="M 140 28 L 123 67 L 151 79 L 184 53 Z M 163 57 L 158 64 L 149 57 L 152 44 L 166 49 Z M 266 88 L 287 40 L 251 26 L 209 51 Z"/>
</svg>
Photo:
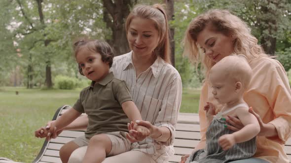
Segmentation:
<svg viewBox="0 0 291 163">
<path fill-rule="evenodd" d="M 77 148 L 79 148 L 79 146 L 73 141 L 70 141 L 63 145 L 60 149 L 60 158 L 62 160 L 62 163 L 68 163 L 72 152 Z"/>
</svg>

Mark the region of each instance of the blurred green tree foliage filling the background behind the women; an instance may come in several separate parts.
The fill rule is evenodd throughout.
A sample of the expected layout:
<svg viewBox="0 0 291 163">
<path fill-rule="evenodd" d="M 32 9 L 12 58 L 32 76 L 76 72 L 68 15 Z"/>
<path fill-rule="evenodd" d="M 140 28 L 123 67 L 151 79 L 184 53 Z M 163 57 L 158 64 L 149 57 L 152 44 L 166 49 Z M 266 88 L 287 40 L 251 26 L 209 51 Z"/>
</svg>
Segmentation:
<svg viewBox="0 0 291 163">
<path fill-rule="evenodd" d="M 27 87 L 44 85 L 47 67 L 57 75 L 80 78 L 72 44 L 79 37 L 107 40 L 116 54 L 129 51 L 124 23 L 135 4 L 171 0 L 0 0 L 0 75 L 6 84 L 20 66 Z M 41 3 L 40 3 L 41 2 Z M 286 70 L 291 47 L 290 0 L 177 0 L 170 27 L 175 30 L 175 67 L 184 86 L 203 80 L 203 73 L 182 56 L 189 22 L 211 8 L 229 9 L 251 27 L 268 54 Z M 40 14 L 39 4 L 41 4 Z M 41 16 L 42 15 L 42 16 Z M 19 51 L 20 50 L 20 51 Z M 5 82 L 4 82 L 5 81 Z"/>
</svg>

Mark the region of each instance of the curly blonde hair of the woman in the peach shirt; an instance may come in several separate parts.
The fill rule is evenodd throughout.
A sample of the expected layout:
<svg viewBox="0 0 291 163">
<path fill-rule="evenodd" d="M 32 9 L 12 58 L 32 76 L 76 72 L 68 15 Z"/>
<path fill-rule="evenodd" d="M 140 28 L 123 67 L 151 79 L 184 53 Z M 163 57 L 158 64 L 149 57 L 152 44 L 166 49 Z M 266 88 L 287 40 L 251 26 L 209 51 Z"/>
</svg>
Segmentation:
<svg viewBox="0 0 291 163">
<path fill-rule="evenodd" d="M 215 62 L 205 57 L 200 50 L 197 36 L 208 25 L 216 32 L 221 32 L 225 36 L 232 38 L 233 53 L 244 54 L 248 61 L 258 56 L 268 56 L 264 53 L 262 47 L 257 44 L 257 39 L 251 34 L 251 29 L 239 17 L 228 10 L 209 10 L 190 22 L 183 40 L 183 55 L 188 56 L 196 67 L 201 62 L 206 77 Z"/>
</svg>

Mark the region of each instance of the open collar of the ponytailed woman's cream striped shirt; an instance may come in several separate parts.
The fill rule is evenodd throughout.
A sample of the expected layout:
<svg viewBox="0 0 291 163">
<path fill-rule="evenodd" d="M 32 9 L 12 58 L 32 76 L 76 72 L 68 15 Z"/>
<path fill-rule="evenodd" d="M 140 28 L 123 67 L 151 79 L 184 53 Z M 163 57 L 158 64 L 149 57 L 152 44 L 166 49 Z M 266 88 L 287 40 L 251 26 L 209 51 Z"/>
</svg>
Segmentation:
<svg viewBox="0 0 291 163">
<path fill-rule="evenodd" d="M 165 64 L 166 62 L 161 58 L 161 57 L 157 57 L 157 59 L 153 62 L 153 64 L 149 67 L 152 71 L 152 74 L 154 76 L 154 78 L 156 78 L 160 72 L 161 72 L 161 69 L 163 67 L 163 65 Z M 129 65 L 132 65 L 133 66 L 133 62 L 132 62 L 132 51 L 129 52 L 126 56 L 126 61 L 124 63 L 124 68 L 123 68 L 123 71 L 129 66 Z"/>
</svg>

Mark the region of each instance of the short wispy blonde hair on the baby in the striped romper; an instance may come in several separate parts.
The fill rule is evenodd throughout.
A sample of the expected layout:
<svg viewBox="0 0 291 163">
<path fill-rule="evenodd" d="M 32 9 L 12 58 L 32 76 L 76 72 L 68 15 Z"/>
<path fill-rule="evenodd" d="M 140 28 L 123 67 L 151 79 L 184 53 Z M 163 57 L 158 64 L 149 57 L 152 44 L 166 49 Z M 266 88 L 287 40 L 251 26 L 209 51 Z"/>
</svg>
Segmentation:
<svg viewBox="0 0 291 163">
<path fill-rule="evenodd" d="M 209 75 L 213 71 L 226 77 L 225 80 L 232 80 L 234 83 L 241 82 L 243 90 L 249 87 L 253 74 L 253 70 L 243 54 L 225 56 L 211 68 Z"/>
</svg>

